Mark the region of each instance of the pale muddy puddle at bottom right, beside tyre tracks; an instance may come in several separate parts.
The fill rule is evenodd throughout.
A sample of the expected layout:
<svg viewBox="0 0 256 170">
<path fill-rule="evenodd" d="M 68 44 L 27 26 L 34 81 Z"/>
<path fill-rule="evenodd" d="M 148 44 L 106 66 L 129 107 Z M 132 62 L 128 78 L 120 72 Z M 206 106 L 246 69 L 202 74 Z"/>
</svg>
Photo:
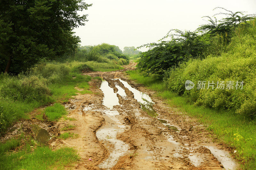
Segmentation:
<svg viewBox="0 0 256 170">
<path fill-rule="evenodd" d="M 213 156 L 217 158 L 218 161 L 220 161 L 220 163 L 224 166 L 225 169 L 232 170 L 237 168 L 236 162 L 231 158 L 228 151 L 218 149 L 215 146 L 204 145 L 204 147 L 208 148 L 212 152 Z"/>
</svg>

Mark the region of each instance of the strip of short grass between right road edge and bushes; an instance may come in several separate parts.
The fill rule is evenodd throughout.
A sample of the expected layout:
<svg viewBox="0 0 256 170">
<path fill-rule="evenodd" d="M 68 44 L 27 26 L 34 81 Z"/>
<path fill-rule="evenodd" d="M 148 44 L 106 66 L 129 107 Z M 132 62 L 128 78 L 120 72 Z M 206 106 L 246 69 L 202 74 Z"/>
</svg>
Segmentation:
<svg viewBox="0 0 256 170">
<path fill-rule="evenodd" d="M 243 169 L 256 167 L 256 121 L 232 111 L 216 110 L 204 106 L 189 104 L 187 99 L 167 90 L 165 83 L 157 76 L 144 77 L 137 70 L 127 71 L 131 79 L 136 80 L 150 89 L 158 91 L 158 95 L 167 99 L 168 104 L 178 106 L 180 111 L 196 117 L 212 131 L 218 141 L 235 147 L 234 157 L 239 160 Z"/>
</svg>

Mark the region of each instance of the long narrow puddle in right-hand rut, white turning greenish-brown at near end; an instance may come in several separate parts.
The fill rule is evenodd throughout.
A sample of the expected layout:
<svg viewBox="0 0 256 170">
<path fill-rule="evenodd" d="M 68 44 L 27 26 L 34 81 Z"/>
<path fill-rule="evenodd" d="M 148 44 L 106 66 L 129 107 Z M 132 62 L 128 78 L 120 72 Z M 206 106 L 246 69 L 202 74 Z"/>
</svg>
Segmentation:
<svg viewBox="0 0 256 170">
<path fill-rule="evenodd" d="M 143 111 L 147 112 L 148 115 L 152 117 L 156 117 L 158 115 L 152 106 L 155 103 L 152 101 L 148 94 L 145 94 L 133 88 L 124 80 L 119 80 L 121 81 L 121 83 L 123 83 L 124 87 L 128 88 L 133 93 L 134 99 L 136 99 L 140 103 L 141 109 Z"/>
</svg>

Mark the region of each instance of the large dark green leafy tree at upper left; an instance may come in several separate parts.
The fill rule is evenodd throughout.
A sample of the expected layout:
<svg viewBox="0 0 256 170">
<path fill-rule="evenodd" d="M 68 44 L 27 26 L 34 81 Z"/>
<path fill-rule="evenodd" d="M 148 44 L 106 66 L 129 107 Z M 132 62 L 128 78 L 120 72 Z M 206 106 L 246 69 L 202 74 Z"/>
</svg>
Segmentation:
<svg viewBox="0 0 256 170">
<path fill-rule="evenodd" d="M 42 58 L 54 59 L 74 50 L 80 39 L 72 30 L 87 21 L 87 15 L 77 12 L 92 5 L 83 0 L 2 0 L 0 4 L 1 71 L 16 73 Z"/>
</svg>

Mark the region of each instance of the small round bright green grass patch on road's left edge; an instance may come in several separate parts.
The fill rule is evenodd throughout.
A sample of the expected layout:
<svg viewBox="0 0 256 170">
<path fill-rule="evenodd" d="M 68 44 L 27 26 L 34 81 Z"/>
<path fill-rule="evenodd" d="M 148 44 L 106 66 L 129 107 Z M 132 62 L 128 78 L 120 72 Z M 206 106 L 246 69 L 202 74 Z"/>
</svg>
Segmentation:
<svg viewBox="0 0 256 170">
<path fill-rule="evenodd" d="M 63 105 L 60 103 L 55 103 L 52 106 L 46 107 L 45 115 L 50 121 L 57 121 L 62 115 L 67 114 L 67 111 Z"/>
</svg>

